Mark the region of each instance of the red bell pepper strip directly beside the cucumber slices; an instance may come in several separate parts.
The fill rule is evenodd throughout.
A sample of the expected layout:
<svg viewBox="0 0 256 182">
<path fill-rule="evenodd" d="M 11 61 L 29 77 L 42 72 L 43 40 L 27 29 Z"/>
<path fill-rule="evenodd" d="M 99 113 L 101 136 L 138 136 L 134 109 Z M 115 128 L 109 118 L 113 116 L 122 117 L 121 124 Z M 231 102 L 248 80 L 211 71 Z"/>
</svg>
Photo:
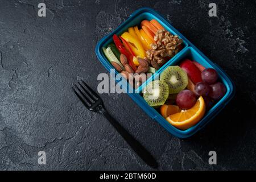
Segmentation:
<svg viewBox="0 0 256 182">
<path fill-rule="evenodd" d="M 113 35 L 113 40 L 114 40 L 114 43 L 115 43 L 115 46 L 117 46 L 117 49 L 127 57 L 127 60 L 131 66 L 131 68 L 133 68 L 134 71 L 137 70 L 137 67 L 135 66 L 135 64 L 133 63 L 133 55 L 127 51 L 127 49 L 123 46 L 121 40 L 118 38 L 117 35 Z"/>
</svg>

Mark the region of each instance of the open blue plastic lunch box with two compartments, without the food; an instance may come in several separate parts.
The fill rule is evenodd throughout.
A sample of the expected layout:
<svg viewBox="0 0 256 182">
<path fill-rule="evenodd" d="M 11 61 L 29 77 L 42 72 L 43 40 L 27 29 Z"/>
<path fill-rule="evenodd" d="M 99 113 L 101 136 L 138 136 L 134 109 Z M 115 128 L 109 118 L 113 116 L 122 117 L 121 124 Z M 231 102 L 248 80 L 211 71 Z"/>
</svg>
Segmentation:
<svg viewBox="0 0 256 182">
<path fill-rule="evenodd" d="M 131 88 L 131 85 L 128 84 L 127 89 L 134 90 L 133 93 L 128 93 L 129 96 L 136 102 L 151 118 L 155 119 L 160 125 L 162 125 L 167 131 L 169 131 L 172 135 L 175 135 L 179 138 L 187 138 L 191 135 L 195 134 L 197 131 L 201 130 L 207 123 L 210 122 L 225 106 L 228 102 L 234 97 L 235 88 L 233 81 L 230 79 L 228 75 L 220 68 L 218 65 L 214 64 L 212 61 L 208 59 L 199 49 L 197 49 L 188 39 L 186 39 L 179 31 L 177 31 L 174 27 L 171 26 L 170 23 L 167 22 L 166 19 L 163 18 L 162 15 L 158 14 L 155 10 L 150 8 L 142 8 L 135 11 L 130 17 L 123 22 L 117 29 L 115 29 L 111 34 L 105 36 L 97 43 L 96 46 L 96 55 L 104 67 L 110 72 L 110 69 L 114 69 L 112 64 L 109 63 L 108 59 L 106 59 L 102 47 L 108 46 L 109 43 L 113 42 L 113 35 L 121 35 L 123 32 L 127 31 L 129 27 L 137 26 L 141 23 L 142 20 L 147 19 L 156 19 L 158 22 L 166 28 L 167 31 L 170 31 L 171 34 L 178 35 L 179 38 L 183 39 L 183 49 L 177 53 L 171 60 L 169 60 L 166 64 L 163 65 L 156 73 L 162 73 L 165 68 L 170 65 L 179 65 L 180 61 L 184 59 L 195 60 L 205 68 L 213 68 L 218 72 L 219 79 L 226 86 L 226 94 L 221 98 L 209 111 L 207 111 L 204 117 L 195 125 L 187 130 L 179 130 L 176 127 L 172 126 L 166 119 L 162 117 L 158 111 L 147 104 L 147 102 L 143 99 L 139 92 L 142 91 L 144 86 L 148 84 L 148 82 L 154 80 L 155 75 L 152 75 L 146 82 L 144 82 L 139 88 L 134 90 Z M 115 74 L 118 72 L 115 71 Z M 125 81 L 125 80 L 122 80 Z"/>
</svg>

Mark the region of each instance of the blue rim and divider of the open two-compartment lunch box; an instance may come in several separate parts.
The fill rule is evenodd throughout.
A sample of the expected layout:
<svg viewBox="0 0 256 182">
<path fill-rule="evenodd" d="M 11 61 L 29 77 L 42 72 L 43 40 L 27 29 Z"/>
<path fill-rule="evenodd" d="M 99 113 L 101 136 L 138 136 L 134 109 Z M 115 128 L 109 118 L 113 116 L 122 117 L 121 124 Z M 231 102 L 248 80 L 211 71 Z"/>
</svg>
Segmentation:
<svg viewBox="0 0 256 182">
<path fill-rule="evenodd" d="M 201 130 L 205 125 L 207 125 L 207 123 L 209 123 L 225 106 L 226 104 L 228 104 L 228 102 L 234 97 L 234 93 L 235 93 L 235 87 L 233 84 L 233 81 L 230 79 L 230 77 L 228 75 L 226 75 L 226 73 L 220 68 L 218 67 L 217 64 L 213 63 L 212 61 L 210 61 L 208 59 L 207 56 L 205 56 L 198 48 L 196 48 L 191 42 L 189 42 L 189 40 L 187 38 L 185 38 L 182 34 L 180 34 L 179 31 L 177 31 L 174 27 L 171 26 L 170 23 L 168 23 L 168 21 L 163 18 L 162 15 L 160 15 L 159 13 L 157 13 L 155 10 L 144 7 L 142 9 L 139 9 L 137 11 L 135 11 L 134 13 L 132 13 L 130 15 L 130 17 L 123 22 L 120 26 L 118 26 L 112 33 L 110 33 L 109 35 L 105 36 L 104 38 L 102 38 L 96 46 L 96 55 L 98 57 L 98 59 L 101 61 L 101 63 L 104 65 L 104 67 L 110 71 L 110 69 L 112 68 L 112 66 L 109 64 L 109 61 L 106 60 L 106 58 L 104 57 L 104 54 L 102 52 L 102 47 L 104 47 L 104 45 L 106 43 L 110 43 L 110 40 L 112 39 L 112 36 L 114 34 L 116 34 L 116 32 L 123 32 L 126 30 L 123 30 L 123 28 L 125 28 L 127 26 L 127 22 L 130 24 L 133 24 L 132 21 L 134 20 L 134 18 L 136 18 L 137 16 L 143 14 L 143 13 L 147 13 L 148 16 L 154 16 L 153 18 L 157 18 L 160 23 L 164 26 L 164 27 L 168 27 L 168 30 L 171 29 L 172 32 L 175 32 L 175 34 L 177 34 L 181 39 L 184 40 L 185 42 L 185 47 L 179 52 L 177 53 L 176 56 L 173 57 L 173 59 L 171 59 L 170 61 L 168 61 L 162 68 L 159 69 L 158 73 L 162 72 L 168 64 L 172 63 L 172 61 L 175 61 L 177 59 L 179 59 L 180 56 L 183 55 L 183 53 L 185 53 L 185 51 L 195 51 L 196 53 L 198 53 L 199 56 L 201 56 L 201 58 L 205 61 L 207 61 L 207 63 L 210 65 L 210 67 L 216 69 L 216 71 L 221 75 L 222 80 L 225 81 L 225 86 L 228 87 L 228 91 L 225 94 L 225 96 L 217 102 L 216 105 L 213 106 L 212 109 L 210 109 L 207 113 L 207 117 L 206 115 L 204 116 L 203 119 L 201 119 L 201 121 L 203 122 L 199 122 L 197 123 L 195 126 L 187 129 L 187 130 L 179 130 L 176 129 L 176 127 L 172 126 L 170 123 L 168 123 L 166 121 L 166 119 L 164 119 L 162 117 L 162 115 L 160 115 L 160 113 L 158 113 L 158 111 L 156 111 L 153 107 L 149 106 L 147 104 L 146 101 L 144 101 L 143 97 L 139 94 L 139 93 L 128 93 L 129 96 L 153 119 L 155 119 L 158 123 L 160 123 L 160 125 L 162 125 L 167 131 L 169 131 L 171 134 L 175 135 L 176 137 L 179 138 L 187 138 L 190 137 L 191 135 L 195 134 L 197 131 Z M 135 25 L 136 23 L 134 23 Z M 191 50 L 189 50 L 191 49 Z M 115 74 L 117 74 L 118 72 L 115 71 Z M 154 75 L 148 80 L 154 80 Z M 143 89 L 142 85 L 139 88 L 139 92 L 141 92 L 141 90 Z M 129 86 L 128 86 L 129 89 Z"/>
</svg>

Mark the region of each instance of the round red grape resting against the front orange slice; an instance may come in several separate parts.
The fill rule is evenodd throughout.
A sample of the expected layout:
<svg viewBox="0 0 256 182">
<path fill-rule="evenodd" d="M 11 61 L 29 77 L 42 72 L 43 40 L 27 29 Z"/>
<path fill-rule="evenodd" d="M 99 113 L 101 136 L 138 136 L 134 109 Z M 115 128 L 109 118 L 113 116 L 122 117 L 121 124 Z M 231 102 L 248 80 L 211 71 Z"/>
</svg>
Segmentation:
<svg viewBox="0 0 256 182">
<path fill-rule="evenodd" d="M 190 90 L 183 90 L 177 94 L 176 104 L 180 109 L 190 109 L 196 104 L 196 95 Z"/>
</svg>

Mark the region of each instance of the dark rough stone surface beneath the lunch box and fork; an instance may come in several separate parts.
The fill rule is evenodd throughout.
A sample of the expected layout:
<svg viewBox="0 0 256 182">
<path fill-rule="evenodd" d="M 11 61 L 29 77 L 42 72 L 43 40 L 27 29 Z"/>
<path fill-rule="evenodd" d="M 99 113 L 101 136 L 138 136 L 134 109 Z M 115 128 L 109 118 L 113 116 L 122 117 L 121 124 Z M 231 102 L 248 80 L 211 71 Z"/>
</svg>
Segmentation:
<svg viewBox="0 0 256 182">
<path fill-rule="evenodd" d="M 46 18 L 37 15 L 47 5 Z M 159 169 L 255 169 L 255 2 L 0 1 L 0 169 L 150 169 L 71 85 L 97 88 L 98 40 L 133 11 L 152 7 L 236 81 L 237 94 L 204 130 L 177 139 L 126 94 L 102 95 L 110 113 L 158 160 Z M 245 3 L 246 2 L 246 3 Z M 47 165 L 38 165 L 38 151 Z M 217 152 L 217 165 L 208 152 Z"/>
</svg>

